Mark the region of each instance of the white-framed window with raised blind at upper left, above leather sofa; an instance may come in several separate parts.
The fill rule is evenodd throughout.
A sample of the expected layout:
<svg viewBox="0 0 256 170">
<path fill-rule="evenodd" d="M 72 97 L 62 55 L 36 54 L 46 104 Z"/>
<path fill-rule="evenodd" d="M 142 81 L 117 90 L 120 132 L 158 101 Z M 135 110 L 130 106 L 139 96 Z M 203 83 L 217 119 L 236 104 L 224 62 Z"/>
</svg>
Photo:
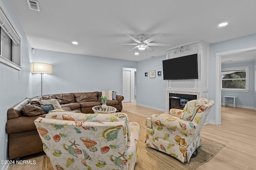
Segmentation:
<svg viewBox="0 0 256 170">
<path fill-rule="evenodd" d="M 0 1 L 0 62 L 17 70 L 21 70 L 20 39 L 18 29 Z"/>
</svg>

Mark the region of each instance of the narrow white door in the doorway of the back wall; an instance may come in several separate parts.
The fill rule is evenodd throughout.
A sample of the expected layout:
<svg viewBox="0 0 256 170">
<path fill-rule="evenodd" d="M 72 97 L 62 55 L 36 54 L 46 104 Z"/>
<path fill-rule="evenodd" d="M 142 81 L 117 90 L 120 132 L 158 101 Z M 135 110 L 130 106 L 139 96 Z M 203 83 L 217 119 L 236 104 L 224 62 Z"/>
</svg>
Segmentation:
<svg viewBox="0 0 256 170">
<path fill-rule="evenodd" d="M 123 102 L 131 102 L 131 72 L 123 71 Z"/>
</svg>

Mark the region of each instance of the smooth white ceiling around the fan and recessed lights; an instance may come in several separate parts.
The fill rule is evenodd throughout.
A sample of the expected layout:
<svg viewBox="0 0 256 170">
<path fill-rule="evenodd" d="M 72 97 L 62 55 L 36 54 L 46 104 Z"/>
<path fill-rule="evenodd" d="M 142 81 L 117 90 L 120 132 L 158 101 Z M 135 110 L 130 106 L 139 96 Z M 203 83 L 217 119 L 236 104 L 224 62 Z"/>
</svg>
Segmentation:
<svg viewBox="0 0 256 170">
<path fill-rule="evenodd" d="M 40 12 L 26 0 L 10 0 L 32 48 L 82 55 L 142 61 L 165 55 L 165 49 L 202 40 L 217 43 L 256 33 L 256 0 L 38 0 Z M 228 22 L 226 27 L 219 23 Z M 145 39 L 154 52 L 128 52 Z M 78 41 L 73 45 L 72 41 Z M 138 51 L 138 56 L 134 53 Z"/>
</svg>

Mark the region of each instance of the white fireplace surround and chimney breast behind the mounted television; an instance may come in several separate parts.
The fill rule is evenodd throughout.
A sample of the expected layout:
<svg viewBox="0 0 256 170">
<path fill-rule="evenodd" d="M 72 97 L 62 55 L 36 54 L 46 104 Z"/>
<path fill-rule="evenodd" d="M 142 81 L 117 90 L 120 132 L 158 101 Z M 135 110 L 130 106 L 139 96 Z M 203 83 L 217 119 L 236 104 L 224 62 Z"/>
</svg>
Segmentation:
<svg viewBox="0 0 256 170">
<path fill-rule="evenodd" d="M 183 50 L 179 50 L 182 47 Z M 166 111 L 169 111 L 169 93 L 194 94 L 197 98 L 209 97 L 209 56 L 210 44 L 194 41 L 166 50 L 166 59 L 186 55 L 198 55 L 198 79 L 166 80 Z M 182 69 L 182 63 L 180 64 Z M 178 70 L 177 70 L 178 71 Z"/>
</svg>

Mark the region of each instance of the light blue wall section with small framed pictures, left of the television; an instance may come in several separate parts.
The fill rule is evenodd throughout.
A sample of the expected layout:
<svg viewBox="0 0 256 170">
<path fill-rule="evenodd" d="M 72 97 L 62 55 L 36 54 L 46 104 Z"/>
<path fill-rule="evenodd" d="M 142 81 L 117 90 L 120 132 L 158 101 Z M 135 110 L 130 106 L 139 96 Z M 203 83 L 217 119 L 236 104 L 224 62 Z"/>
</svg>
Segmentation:
<svg viewBox="0 0 256 170">
<path fill-rule="evenodd" d="M 166 80 L 157 76 L 158 71 L 163 72 L 162 61 L 165 59 L 166 56 L 161 56 L 138 62 L 137 105 L 166 110 Z M 149 77 L 150 70 L 156 70 L 156 78 Z M 148 77 L 145 77 L 145 72 L 148 72 Z"/>
</svg>

